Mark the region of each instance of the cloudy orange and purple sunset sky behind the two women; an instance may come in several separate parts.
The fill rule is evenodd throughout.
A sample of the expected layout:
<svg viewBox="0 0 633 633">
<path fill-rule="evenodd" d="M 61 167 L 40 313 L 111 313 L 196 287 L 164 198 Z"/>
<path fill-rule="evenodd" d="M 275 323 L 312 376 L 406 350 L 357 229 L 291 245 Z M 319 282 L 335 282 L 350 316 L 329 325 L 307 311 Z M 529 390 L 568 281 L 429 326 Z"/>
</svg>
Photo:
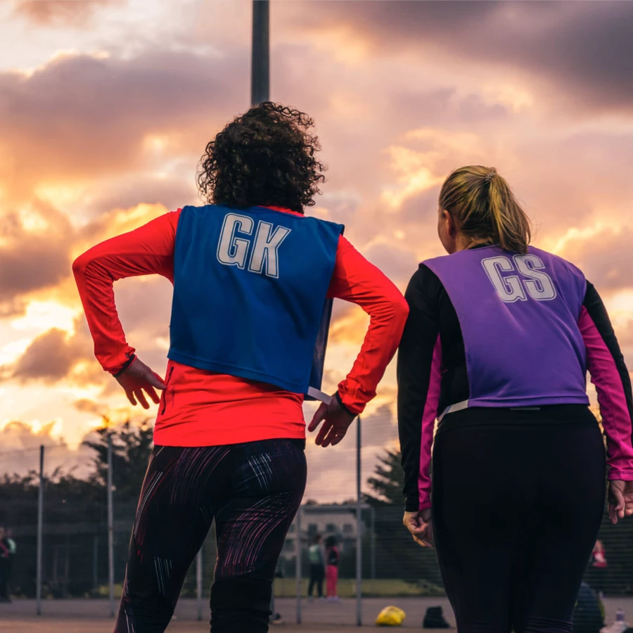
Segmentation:
<svg viewBox="0 0 633 633">
<path fill-rule="evenodd" d="M 94 360 L 70 264 L 198 202 L 205 144 L 248 108 L 250 10 L 0 3 L 0 472 L 25 463 L 7 450 L 42 442 L 68 442 L 70 463 L 102 412 L 126 414 Z M 535 223 L 533 243 L 601 292 L 633 364 L 632 29 L 629 2 L 272 0 L 271 98 L 314 117 L 328 165 L 310 212 L 343 222 L 404 290 L 442 252 L 449 171 L 497 167 Z M 129 342 L 162 373 L 170 283 L 115 292 Z M 336 307 L 328 389 L 365 326 L 359 309 Z M 392 364 L 367 411 L 368 456 L 395 442 L 394 400 Z M 315 472 L 334 459 L 309 455 Z"/>
</svg>

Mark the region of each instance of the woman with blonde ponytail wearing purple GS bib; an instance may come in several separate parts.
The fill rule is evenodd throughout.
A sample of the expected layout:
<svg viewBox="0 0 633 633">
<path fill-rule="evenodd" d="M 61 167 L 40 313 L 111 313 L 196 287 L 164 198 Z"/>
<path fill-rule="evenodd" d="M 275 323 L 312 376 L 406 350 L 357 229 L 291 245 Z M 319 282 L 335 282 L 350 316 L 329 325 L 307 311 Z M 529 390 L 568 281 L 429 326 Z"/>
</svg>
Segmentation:
<svg viewBox="0 0 633 633">
<path fill-rule="evenodd" d="M 494 167 L 449 175 L 438 234 L 399 347 L 404 525 L 436 547 L 459 633 L 570 633 L 607 466 L 610 520 L 633 514 L 629 373 L 594 286 L 529 245 Z"/>
</svg>

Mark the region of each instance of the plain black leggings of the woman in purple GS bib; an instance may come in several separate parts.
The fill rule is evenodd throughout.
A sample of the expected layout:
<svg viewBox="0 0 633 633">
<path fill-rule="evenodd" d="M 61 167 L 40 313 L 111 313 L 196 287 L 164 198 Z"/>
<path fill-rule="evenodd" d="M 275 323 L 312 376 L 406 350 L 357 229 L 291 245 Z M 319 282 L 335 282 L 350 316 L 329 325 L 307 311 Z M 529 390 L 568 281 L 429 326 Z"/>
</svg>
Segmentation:
<svg viewBox="0 0 633 633">
<path fill-rule="evenodd" d="M 435 544 L 459 633 L 571 632 L 606 490 L 589 416 L 437 433 Z"/>
</svg>

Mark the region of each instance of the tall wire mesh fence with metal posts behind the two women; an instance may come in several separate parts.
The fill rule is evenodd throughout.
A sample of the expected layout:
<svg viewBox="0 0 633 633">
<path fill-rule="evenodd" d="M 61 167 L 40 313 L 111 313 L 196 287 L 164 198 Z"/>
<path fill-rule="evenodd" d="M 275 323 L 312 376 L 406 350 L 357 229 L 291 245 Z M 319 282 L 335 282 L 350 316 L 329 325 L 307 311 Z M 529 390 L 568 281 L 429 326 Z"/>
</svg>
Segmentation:
<svg viewBox="0 0 633 633">
<path fill-rule="evenodd" d="M 307 489 L 274 583 L 274 610 L 287 622 L 371 624 L 381 608 L 395 604 L 409 625 L 419 627 L 430 606 L 441 606 L 454 624 L 435 554 L 414 545 L 402 527 L 395 424 L 385 411 L 364 418 L 360 436 L 352 427 L 338 447 L 308 442 Z M 15 601 L 38 613 L 50 613 L 54 604 L 55 613 L 65 608 L 74 615 L 84 609 L 79 599 L 97 615 L 117 608 L 146 456 L 126 459 L 129 446 L 113 438 L 110 515 L 108 433 L 79 452 L 33 447 L 12 452 L 10 464 L 0 454 L 0 462 L 7 459 L 2 470 L 15 471 L 0 481 L 0 525 L 17 545 L 9 587 Z M 588 561 L 585 580 L 606 596 L 607 620 L 618 608 L 633 615 L 633 521 L 613 526 L 605 515 L 599 540 L 603 554 Z M 310 551 L 315 544 L 320 570 Z M 338 551 L 335 583 L 330 545 Z M 207 619 L 216 557 L 212 528 L 186 577 L 179 618 Z"/>
</svg>

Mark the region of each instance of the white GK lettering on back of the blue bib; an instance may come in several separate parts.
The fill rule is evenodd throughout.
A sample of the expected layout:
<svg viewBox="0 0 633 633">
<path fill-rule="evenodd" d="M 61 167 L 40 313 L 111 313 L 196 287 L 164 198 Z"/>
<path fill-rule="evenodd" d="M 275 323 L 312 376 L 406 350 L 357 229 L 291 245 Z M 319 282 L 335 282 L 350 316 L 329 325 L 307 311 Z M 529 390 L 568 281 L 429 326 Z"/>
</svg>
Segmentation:
<svg viewBox="0 0 633 633">
<path fill-rule="evenodd" d="M 217 260 L 225 266 L 241 269 L 246 268 L 248 260 L 250 272 L 279 277 L 279 246 L 290 234 L 290 229 L 285 226 L 274 229 L 270 222 L 264 220 L 257 222 L 257 229 L 253 229 L 255 222 L 252 217 L 227 214 L 217 245 Z"/>
</svg>

